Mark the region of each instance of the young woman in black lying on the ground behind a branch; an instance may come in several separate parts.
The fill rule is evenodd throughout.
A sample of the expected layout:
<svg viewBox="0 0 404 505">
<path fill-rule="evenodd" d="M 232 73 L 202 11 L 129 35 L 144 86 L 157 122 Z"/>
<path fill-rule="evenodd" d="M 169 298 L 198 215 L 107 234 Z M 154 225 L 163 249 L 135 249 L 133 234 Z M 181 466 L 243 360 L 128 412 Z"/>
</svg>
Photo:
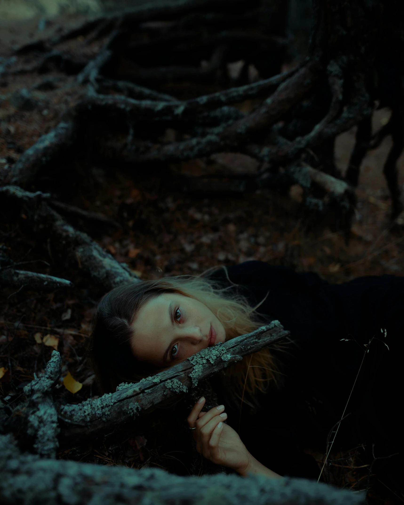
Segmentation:
<svg viewBox="0 0 404 505">
<path fill-rule="evenodd" d="M 333 451 L 361 445 L 371 463 L 402 450 L 403 308 L 401 277 L 330 285 L 250 261 L 114 289 L 98 305 L 92 356 L 101 388 L 114 391 L 278 319 L 291 342 L 226 369 L 226 413 L 223 405 L 203 412 L 201 398 L 187 421 L 197 450 L 240 475 L 317 478 L 307 449 L 324 452 L 343 412 Z M 399 460 L 378 460 L 393 462 L 387 478 Z"/>
</svg>

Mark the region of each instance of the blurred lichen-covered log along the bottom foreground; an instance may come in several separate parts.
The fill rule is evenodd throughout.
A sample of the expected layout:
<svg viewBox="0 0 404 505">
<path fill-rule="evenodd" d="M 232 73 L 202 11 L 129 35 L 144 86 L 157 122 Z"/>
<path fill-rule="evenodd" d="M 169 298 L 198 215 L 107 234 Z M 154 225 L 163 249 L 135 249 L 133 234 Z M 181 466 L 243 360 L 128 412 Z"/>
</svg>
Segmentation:
<svg viewBox="0 0 404 505">
<path fill-rule="evenodd" d="M 0 435 L 0 500 L 41 505 L 360 505 L 364 496 L 302 479 L 250 475 L 180 477 L 160 469 L 133 470 L 48 461 L 19 451 Z"/>
</svg>

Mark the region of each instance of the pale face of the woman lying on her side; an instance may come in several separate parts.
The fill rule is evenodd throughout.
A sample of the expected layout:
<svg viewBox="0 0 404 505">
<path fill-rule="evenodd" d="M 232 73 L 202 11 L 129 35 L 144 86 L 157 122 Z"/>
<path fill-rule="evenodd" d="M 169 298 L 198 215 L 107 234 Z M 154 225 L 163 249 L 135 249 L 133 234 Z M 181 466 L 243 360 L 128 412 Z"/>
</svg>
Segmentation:
<svg viewBox="0 0 404 505">
<path fill-rule="evenodd" d="M 206 305 L 175 293 L 147 301 L 132 328 L 131 347 L 136 359 L 161 368 L 226 338 L 222 323 Z"/>
</svg>

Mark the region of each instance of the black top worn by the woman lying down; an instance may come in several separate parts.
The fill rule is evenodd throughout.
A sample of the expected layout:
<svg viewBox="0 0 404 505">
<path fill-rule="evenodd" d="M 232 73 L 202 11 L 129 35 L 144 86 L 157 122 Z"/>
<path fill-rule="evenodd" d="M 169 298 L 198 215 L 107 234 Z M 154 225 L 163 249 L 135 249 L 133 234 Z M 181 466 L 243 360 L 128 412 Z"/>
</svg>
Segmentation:
<svg viewBox="0 0 404 505">
<path fill-rule="evenodd" d="M 345 412 L 350 415 L 339 427 L 333 451 L 366 444 L 371 453 L 374 443 L 376 456 L 400 452 L 404 278 L 372 276 L 330 285 L 317 274 L 259 261 L 227 272 L 237 284 L 231 289 L 251 306 L 268 293 L 259 312 L 278 319 L 293 341 L 286 352 L 276 353 L 280 387 L 260 395 L 258 409 L 242 407 L 240 436 L 252 455 L 282 475 L 317 478 L 317 464 L 304 449 L 325 451 L 364 354 Z M 210 278 L 231 285 L 223 269 Z M 225 396 L 223 401 L 226 405 Z M 237 430 L 239 408 L 226 406 L 226 411 Z"/>
</svg>

